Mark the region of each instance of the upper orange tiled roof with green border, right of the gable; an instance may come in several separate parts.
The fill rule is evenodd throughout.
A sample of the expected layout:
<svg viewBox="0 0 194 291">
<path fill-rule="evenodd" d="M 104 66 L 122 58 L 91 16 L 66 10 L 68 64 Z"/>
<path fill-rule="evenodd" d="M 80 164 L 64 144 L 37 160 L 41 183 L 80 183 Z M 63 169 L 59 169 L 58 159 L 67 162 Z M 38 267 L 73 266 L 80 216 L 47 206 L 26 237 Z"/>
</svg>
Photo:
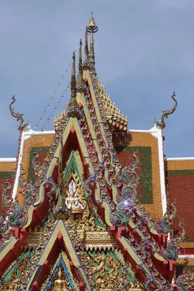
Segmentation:
<svg viewBox="0 0 194 291">
<path fill-rule="evenodd" d="M 149 132 L 130 132 L 128 138 L 114 135 L 113 144 L 122 166 L 132 161 L 133 152 L 138 150 L 141 179 L 137 193 L 153 218 L 162 217 L 158 139 Z"/>
</svg>

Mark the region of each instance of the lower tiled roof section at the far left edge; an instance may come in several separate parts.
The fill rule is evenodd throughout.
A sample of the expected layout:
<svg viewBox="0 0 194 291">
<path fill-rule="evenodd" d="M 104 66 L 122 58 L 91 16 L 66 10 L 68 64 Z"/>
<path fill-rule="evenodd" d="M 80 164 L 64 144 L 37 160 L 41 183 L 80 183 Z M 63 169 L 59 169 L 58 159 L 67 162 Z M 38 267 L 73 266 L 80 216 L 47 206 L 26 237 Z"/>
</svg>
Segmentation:
<svg viewBox="0 0 194 291">
<path fill-rule="evenodd" d="M 5 159 L 4 161 L 0 161 L 0 215 L 2 214 L 2 193 L 3 189 L 6 188 L 6 180 L 11 183 L 13 187 L 14 183 L 14 176 L 15 176 L 15 169 L 16 169 L 16 161 L 10 162 L 6 161 L 8 159 Z M 13 159 L 14 161 L 14 159 Z M 10 189 L 7 194 L 11 194 L 12 189 Z"/>
</svg>

